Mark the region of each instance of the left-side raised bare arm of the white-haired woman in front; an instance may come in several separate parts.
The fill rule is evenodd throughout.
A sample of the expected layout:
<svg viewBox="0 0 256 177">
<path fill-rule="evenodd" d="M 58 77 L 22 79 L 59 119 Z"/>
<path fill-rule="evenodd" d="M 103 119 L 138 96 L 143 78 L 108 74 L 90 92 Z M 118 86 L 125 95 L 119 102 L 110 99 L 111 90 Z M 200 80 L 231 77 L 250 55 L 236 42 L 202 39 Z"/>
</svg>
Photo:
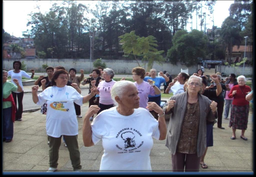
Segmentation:
<svg viewBox="0 0 256 177">
<path fill-rule="evenodd" d="M 92 127 L 90 124 L 90 117 L 93 116 L 93 114 L 96 114 L 100 108 L 97 105 L 91 105 L 84 117 L 83 121 L 83 144 L 85 147 L 93 146 L 94 143 L 92 141 Z"/>
</svg>

